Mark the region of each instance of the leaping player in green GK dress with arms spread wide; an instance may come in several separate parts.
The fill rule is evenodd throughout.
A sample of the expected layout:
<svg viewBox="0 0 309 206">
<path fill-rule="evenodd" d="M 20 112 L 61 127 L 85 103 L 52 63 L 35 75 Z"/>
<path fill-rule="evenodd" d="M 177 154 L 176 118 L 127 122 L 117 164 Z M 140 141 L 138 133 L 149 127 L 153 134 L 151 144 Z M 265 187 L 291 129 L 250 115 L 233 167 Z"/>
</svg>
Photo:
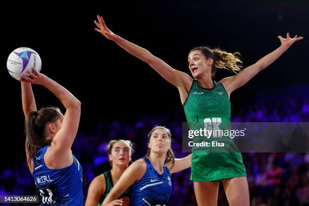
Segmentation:
<svg viewBox="0 0 309 206">
<path fill-rule="evenodd" d="M 189 70 L 192 79 L 184 72 L 173 69 L 161 59 L 153 56 L 146 49 L 137 46 L 107 28 L 102 17 L 94 22 L 106 38 L 115 41 L 131 55 L 139 58 L 155 69 L 164 79 L 176 86 L 183 104 L 189 125 L 220 121 L 230 122 L 230 95 L 248 82 L 253 76 L 277 60 L 295 41 L 303 37 L 286 38 L 278 36 L 281 45 L 255 64 L 243 69 L 237 53 L 227 53 L 220 49 L 196 47 L 188 55 Z M 226 68 L 238 74 L 222 79 L 212 80 L 218 68 Z M 229 146 L 234 146 L 232 140 Z M 198 205 L 217 205 L 219 180 L 230 205 L 249 205 L 249 191 L 245 167 L 240 152 L 194 152 L 192 155 L 191 178 Z"/>
</svg>

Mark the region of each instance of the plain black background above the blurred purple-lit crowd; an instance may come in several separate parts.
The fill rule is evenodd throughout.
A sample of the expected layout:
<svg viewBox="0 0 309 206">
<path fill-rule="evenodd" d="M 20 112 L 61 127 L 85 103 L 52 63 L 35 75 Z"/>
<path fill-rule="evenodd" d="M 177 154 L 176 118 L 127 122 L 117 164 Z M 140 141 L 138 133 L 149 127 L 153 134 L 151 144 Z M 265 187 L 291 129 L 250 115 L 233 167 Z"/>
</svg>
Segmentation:
<svg viewBox="0 0 309 206">
<path fill-rule="evenodd" d="M 240 52 L 246 67 L 276 49 L 278 35 L 303 36 L 279 60 L 233 92 L 232 115 L 256 101 L 259 91 L 308 83 L 307 1 L 98 2 L 1 3 L 1 168 L 25 161 L 20 83 L 6 69 L 9 54 L 21 46 L 36 50 L 41 72 L 80 99 L 79 131 L 83 133 L 93 132 L 100 121 L 134 121 L 145 114 L 169 116 L 182 111 L 173 85 L 94 31 L 97 14 L 114 33 L 188 74 L 187 55 L 195 46 Z M 229 75 L 221 71 L 215 80 Z M 38 108 L 64 109 L 43 86 L 33 85 L 33 90 Z"/>
</svg>

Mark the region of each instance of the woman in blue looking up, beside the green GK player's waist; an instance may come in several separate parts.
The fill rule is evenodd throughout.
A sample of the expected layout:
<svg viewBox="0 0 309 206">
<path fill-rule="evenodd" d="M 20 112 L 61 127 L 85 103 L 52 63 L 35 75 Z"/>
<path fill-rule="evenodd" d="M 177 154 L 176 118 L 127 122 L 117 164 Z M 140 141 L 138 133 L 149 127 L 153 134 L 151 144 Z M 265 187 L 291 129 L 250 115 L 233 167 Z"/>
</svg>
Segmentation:
<svg viewBox="0 0 309 206">
<path fill-rule="evenodd" d="M 175 159 L 171 149 L 171 131 L 156 126 L 148 133 L 148 151 L 144 158 L 128 167 L 105 198 L 111 204 L 131 185 L 130 205 L 168 205 L 172 194 L 171 174 L 191 166 L 191 155 Z"/>
</svg>

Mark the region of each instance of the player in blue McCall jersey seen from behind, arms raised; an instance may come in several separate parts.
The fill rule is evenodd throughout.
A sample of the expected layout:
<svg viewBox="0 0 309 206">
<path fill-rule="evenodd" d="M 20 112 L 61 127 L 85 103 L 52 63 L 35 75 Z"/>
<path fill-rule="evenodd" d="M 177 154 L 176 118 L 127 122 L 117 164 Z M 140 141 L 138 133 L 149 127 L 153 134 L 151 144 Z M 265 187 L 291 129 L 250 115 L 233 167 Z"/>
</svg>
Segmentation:
<svg viewBox="0 0 309 206">
<path fill-rule="evenodd" d="M 83 205 L 82 168 L 71 151 L 80 119 L 80 101 L 67 89 L 32 68 L 22 75 L 23 111 L 26 117 L 26 156 L 39 205 Z M 66 113 L 48 107 L 37 111 L 31 83 L 53 92 Z"/>
</svg>

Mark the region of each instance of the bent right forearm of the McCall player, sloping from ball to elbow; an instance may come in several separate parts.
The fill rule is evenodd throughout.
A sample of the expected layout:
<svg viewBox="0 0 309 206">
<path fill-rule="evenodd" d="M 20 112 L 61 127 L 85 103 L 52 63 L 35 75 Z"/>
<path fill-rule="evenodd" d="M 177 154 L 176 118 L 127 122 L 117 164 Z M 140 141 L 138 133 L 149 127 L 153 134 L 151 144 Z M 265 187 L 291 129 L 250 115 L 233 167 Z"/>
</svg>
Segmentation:
<svg viewBox="0 0 309 206">
<path fill-rule="evenodd" d="M 80 107 L 80 101 L 73 94 L 71 94 L 71 92 L 58 84 L 56 81 L 45 76 L 45 80 L 43 81 L 42 85 L 53 92 L 67 110 Z"/>
</svg>

